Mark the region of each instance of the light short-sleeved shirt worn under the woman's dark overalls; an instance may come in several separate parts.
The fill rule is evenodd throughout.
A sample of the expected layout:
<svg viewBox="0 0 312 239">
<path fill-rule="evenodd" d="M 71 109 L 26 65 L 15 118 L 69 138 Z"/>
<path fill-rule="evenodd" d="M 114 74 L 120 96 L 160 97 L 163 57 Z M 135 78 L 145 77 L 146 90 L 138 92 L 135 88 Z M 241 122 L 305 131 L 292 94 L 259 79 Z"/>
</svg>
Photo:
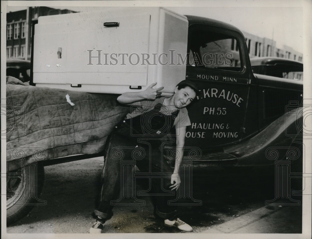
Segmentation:
<svg viewBox="0 0 312 239">
<path fill-rule="evenodd" d="M 155 100 L 135 102 L 135 104 L 131 106 L 131 108 L 133 108 L 132 112 L 126 115 L 126 119 L 130 119 L 138 115 L 141 115 L 145 112 L 148 112 L 149 110 L 153 110 L 155 105 L 157 105 L 158 103 L 163 104 L 164 98 L 165 97 L 160 97 L 159 99 Z M 160 108 L 160 112 L 165 115 L 169 114 L 169 110 L 166 105 L 163 105 Z M 174 128 L 181 128 L 189 125 L 191 125 L 191 121 L 190 118 L 188 117 L 188 110 L 186 108 L 181 108 L 179 110 L 177 117 L 174 119 L 173 126 Z"/>
</svg>

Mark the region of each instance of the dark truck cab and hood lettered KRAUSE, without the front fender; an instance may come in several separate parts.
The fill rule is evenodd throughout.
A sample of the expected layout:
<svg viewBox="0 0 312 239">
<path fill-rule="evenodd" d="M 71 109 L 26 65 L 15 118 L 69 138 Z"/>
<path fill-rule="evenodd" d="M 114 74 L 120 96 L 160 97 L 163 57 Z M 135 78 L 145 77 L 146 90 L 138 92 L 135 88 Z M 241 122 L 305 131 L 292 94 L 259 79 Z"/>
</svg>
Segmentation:
<svg viewBox="0 0 312 239">
<path fill-rule="evenodd" d="M 202 161 L 197 162 L 239 165 L 242 155 L 228 149 L 257 138 L 285 115 L 289 102 L 301 102 L 303 84 L 254 75 L 239 29 L 204 17 L 187 18 L 186 78 L 196 82 L 201 92 L 188 107 L 192 125 L 187 129 L 186 146 L 201 149 Z M 251 164 L 271 163 L 265 157 L 250 156 L 249 160 Z"/>
</svg>

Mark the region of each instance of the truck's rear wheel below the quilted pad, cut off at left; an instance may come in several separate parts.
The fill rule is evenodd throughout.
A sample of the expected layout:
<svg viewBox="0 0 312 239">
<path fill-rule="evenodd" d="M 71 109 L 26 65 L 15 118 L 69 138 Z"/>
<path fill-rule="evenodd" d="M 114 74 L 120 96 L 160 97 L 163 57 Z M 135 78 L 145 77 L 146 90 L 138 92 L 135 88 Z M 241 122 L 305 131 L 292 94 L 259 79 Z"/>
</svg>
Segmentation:
<svg viewBox="0 0 312 239">
<path fill-rule="evenodd" d="M 7 173 L 7 225 L 26 216 L 38 203 L 43 182 L 42 163 L 26 164 Z"/>
</svg>

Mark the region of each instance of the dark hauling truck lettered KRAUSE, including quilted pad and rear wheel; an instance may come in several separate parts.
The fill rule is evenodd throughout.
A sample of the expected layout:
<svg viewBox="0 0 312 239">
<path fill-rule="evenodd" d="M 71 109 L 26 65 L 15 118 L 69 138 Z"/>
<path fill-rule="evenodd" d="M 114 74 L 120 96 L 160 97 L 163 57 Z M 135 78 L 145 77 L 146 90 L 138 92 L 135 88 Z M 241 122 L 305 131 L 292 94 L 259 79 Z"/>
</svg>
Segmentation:
<svg viewBox="0 0 312 239">
<path fill-rule="evenodd" d="M 260 167 L 272 165 L 276 160 L 301 157 L 302 146 L 300 140 L 295 139 L 301 134 L 302 127 L 300 103 L 303 82 L 254 75 L 245 37 L 239 29 L 204 17 L 187 16 L 187 19 L 185 78 L 196 82 L 201 93 L 197 101 L 188 107 L 192 125 L 187 129 L 183 160 L 190 162 L 192 167 Z M 234 50 L 233 44 L 236 45 Z M 234 59 L 239 59 L 239 66 Z M 7 87 L 7 112 L 12 113 L 7 114 L 8 224 L 25 216 L 33 205 L 43 204 L 38 199 L 44 179 L 43 166 L 103 155 L 109 133 L 105 137 L 100 136 L 103 124 L 106 122 L 108 125 L 100 113 L 110 118 L 110 128 L 105 129 L 105 132 L 110 132 L 129 111 L 116 104 L 116 95 L 72 91 L 71 101 L 79 104 L 79 113 L 86 117 L 80 122 L 83 117 L 75 115 L 71 105 L 55 101 L 68 91 L 20 86 L 27 87 L 27 92 L 19 92 L 18 89 L 16 92 L 14 87 L 18 88 Z M 22 103 L 14 104 L 17 97 Z M 99 110 L 101 104 L 106 107 L 104 110 Z M 27 107 L 30 109 L 27 110 Z M 29 118 L 28 112 L 31 114 L 34 111 L 36 114 Z M 56 112 L 61 113 L 53 118 Z M 17 118 L 22 114 L 25 116 L 20 117 L 24 120 L 24 131 L 14 133 L 18 128 L 14 128 L 14 123 L 19 122 Z M 47 119 L 43 120 L 44 117 Z M 44 127 L 56 124 L 56 121 L 61 122 L 60 130 L 42 131 Z M 31 122 L 40 122 L 40 126 Z M 83 134 L 81 132 L 90 126 L 86 122 L 92 122 L 93 131 Z M 8 136 L 10 130 L 13 133 Z M 54 133 L 53 138 L 48 138 L 51 132 Z M 70 138 L 72 134 L 75 137 Z M 69 143 L 56 144 L 60 141 L 56 139 L 60 137 L 65 142 L 64 135 L 70 138 Z M 24 143 L 24 150 L 18 152 L 18 143 L 30 138 L 33 141 Z M 50 140 L 46 142 L 46 138 Z M 32 152 L 27 151 L 33 148 Z M 168 160 L 171 159 L 164 154 Z"/>
</svg>

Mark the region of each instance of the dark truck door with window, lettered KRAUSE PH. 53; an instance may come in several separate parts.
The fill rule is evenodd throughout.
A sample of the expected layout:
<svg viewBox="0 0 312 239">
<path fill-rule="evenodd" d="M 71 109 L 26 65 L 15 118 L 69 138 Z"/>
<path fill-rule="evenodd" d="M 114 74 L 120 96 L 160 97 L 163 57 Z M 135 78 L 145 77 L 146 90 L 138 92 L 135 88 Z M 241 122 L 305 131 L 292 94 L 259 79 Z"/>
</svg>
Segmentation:
<svg viewBox="0 0 312 239">
<path fill-rule="evenodd" d="M 250 77 L 242 34 L 205 25 L 188 33 L 186 78 L 201 90 L 188 107 L 186 146 L 217 149 L 244 138 Z"/>
</svg>

